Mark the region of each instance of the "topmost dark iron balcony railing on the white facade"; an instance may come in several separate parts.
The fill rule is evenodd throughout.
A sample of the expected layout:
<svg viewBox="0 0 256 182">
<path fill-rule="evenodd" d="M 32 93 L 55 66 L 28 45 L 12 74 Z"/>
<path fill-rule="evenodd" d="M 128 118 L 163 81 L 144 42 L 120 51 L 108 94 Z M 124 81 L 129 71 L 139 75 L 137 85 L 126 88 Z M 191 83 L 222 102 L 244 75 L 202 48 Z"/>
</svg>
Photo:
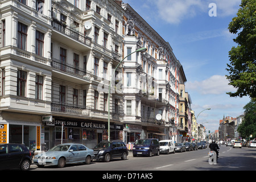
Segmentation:
<svg viewBox="0 0 256 182">
<path fill-rule="evenodd" d="M 69 37 L 86 44 L 87 46 L 90 46 L 90 44 L 92 43 L 91 38 L 89 38 L 88 36 L 84 36 L 79 31 L 71 27 L 68 27 L 66 24 L 61 23 L 56 19 L 53 19 L 52 27 L 63 34 L 68 35 Z"/>
</svg>

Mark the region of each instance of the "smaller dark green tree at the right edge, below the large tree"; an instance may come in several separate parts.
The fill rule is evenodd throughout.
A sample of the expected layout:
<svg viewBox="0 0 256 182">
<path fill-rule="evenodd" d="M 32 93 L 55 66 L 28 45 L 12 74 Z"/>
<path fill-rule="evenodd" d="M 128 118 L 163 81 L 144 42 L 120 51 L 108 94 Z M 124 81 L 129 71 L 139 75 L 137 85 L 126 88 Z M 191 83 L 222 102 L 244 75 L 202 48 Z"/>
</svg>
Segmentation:
<svg viewBox="0 0 256 182">
<path fill-rule="evenodd" d="M 256 101 L 250 101 L 243 109 L 245 109 L 245 117 L 237 131 L 242 138 L 248 138 L 250 135 L 256 138 Z"/>
</svg>

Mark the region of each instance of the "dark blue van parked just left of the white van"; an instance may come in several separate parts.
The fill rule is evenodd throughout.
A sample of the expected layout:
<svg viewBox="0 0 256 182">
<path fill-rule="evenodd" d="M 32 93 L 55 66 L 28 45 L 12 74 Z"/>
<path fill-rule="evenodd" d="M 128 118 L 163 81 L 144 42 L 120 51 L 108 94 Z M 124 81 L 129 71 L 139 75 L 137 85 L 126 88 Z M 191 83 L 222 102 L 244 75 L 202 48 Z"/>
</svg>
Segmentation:
<svg viewBox="0 0 256 182">
<path fill-rule="evenodd" d="M 133 147 L 133 156 L 137 155 L 159 155 L 160 154 L 160 145 L 157 139 L 147 138 L 147 139 L 138 139 L 135 142 Z"/>
</svg>

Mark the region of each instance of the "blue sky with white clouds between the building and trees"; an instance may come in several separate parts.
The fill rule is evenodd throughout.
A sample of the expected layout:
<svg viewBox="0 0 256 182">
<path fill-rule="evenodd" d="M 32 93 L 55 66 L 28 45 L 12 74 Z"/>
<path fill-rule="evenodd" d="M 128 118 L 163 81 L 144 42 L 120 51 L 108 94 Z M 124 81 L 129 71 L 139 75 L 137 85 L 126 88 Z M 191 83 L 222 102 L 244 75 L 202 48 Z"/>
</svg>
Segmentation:
<svg viewBox="0 0 256 182">
<path fill-rule="evenodd" d="M 229 51 L 237 46 L 230 34 L 229 22 L 236 16 L 241 0 L 123 0 L 166 42 L 183 65 L 187 82 L 185 91 L 192 100 L 198 123 L 208 130 L 218 130 L 220 119 L 237 117 L 249 97 L 233 98 L 226 92 L 236 89 L 228 85 L 225 75 Z M 210 3 L 215 3 L 217 16 L 209 16 Z M 208 122 L 208 123 L 205 123 Z"/>
</svg>

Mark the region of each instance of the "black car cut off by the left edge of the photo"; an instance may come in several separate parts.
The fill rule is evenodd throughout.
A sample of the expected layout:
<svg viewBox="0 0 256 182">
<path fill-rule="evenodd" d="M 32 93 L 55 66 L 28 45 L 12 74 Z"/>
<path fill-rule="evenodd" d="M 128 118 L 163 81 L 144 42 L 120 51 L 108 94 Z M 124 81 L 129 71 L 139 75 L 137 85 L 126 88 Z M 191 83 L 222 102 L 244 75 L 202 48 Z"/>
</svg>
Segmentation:
<svg viewBox="0 0 256 182">
<path fill-rule="evenodd" d="M 0 170 L 20 168 L 27 171 L 31 161 L 31 152 L 23 144 L 0 144 Z"/>
</svg>

